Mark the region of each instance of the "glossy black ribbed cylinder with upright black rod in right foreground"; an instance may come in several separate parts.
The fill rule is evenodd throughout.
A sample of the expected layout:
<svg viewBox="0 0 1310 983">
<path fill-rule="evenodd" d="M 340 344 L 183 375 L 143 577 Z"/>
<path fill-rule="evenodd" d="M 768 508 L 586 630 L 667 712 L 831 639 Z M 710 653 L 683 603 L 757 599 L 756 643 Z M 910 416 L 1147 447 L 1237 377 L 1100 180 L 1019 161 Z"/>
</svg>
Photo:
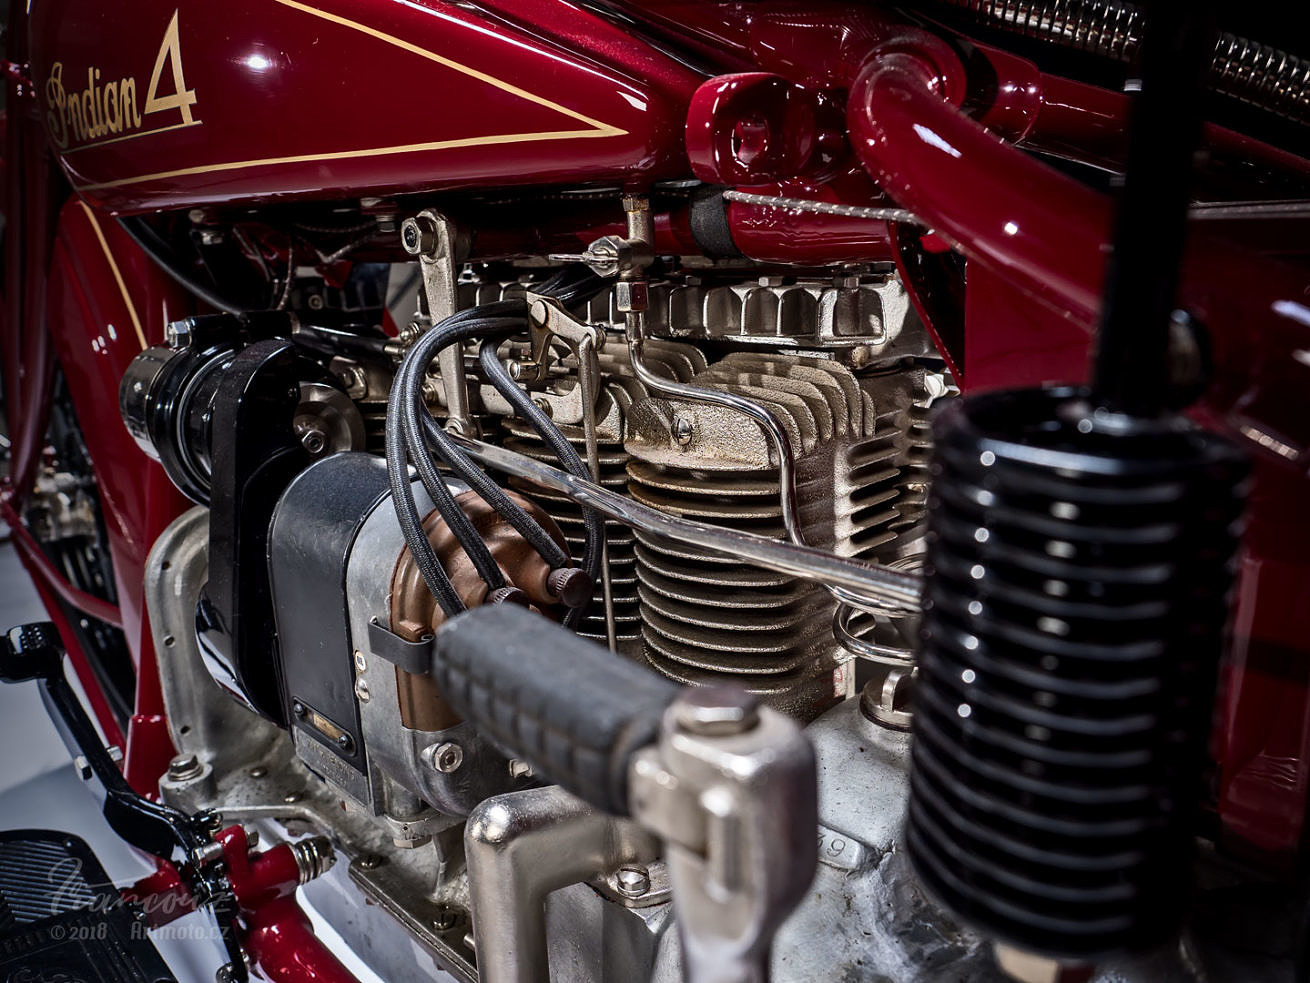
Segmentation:
<svg viewBox="0 0 1310 983">
<path fill-rule="evenodd" d="M 1166 410 L 1205 7 L 1148 25 L 1093 387 L 935 423 L 910 856 L 965 921 L 1073 961 L 1186 908 L 1233 583 L 1244 460 Z"/>
</svg>

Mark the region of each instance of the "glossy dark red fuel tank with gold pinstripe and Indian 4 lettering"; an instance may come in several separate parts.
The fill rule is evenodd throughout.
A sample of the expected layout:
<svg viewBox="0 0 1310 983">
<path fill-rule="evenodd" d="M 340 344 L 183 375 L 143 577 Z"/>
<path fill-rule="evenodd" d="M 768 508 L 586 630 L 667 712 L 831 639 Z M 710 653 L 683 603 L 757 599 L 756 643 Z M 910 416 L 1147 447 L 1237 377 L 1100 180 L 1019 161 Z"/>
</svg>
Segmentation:
<svg viewBox="0 0 1310 983">
<path fill-rule="evenodd" d="M 73 187 L 117 212 L 689 173 L 702 76 L 563 0 L 38 0 Z"/>
</svg>

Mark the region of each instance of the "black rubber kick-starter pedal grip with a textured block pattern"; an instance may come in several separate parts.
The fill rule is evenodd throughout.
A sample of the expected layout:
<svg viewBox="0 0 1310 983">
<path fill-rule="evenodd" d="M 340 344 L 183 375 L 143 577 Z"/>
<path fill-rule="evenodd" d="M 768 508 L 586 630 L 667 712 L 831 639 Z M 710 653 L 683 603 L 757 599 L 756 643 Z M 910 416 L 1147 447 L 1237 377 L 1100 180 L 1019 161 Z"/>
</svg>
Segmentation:
<svg viewBox="0 0 1310 983">
<path fill-rule="evenodd" d="M 627 815 L 627 767 L 659 734 L 675 683 L 517 604 L 474 608 L 436 634 L 432 674 L 504 754 Z"/>
</svg>

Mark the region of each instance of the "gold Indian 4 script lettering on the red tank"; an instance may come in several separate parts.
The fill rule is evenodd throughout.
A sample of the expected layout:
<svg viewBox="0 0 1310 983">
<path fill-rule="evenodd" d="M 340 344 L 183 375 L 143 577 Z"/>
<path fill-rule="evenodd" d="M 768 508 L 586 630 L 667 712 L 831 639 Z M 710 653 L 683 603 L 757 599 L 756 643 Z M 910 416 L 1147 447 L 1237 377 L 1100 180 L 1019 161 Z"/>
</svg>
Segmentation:
<svg viewBox="0 0 1310 983">
<path fill-rule="evenodd" d="M 195 90 L 186 88 L 186 79 L 182 75 L 177 13 L 173 10 L 173 20 L 169 21 L 159 54 L 155 56 L 155 69 L 145 89 L 144 107 L 138 104 L 136 76 L 117 81 L 106 80 L 101 79 L 100 69 L 92 66 L 86 69 L 86 87 L 77 89 L 73 87 L 81 83 L 81 77 L 66 80 L 63 62 L 55 62 L 50 67 L 50 79 L 46 80 L 46 123 L 55 147 L 62 151 L 79 149 L 199 125 L 200 121 L 191 114 Z M 172 94 L 160 94 L 160 80 L 165 66 L 173 76 Z M 174 117 L 173 122 L 148 119 L 157 113 L 174 110 L 179 118 Z M 148 122 L 161 125 L 145 126 Z"/>
</svg>

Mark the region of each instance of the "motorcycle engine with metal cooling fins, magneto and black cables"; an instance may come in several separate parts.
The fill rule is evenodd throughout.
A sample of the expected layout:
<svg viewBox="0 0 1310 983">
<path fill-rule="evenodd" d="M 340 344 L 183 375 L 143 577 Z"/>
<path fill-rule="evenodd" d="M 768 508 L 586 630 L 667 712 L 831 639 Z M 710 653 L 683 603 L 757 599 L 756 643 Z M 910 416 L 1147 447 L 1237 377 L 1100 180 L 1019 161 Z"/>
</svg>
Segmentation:
<svg viewBox="0 0 1310 983">
<path fill-rule="evenodd" d="M 124 421 L 200 503 L 147 573 L 162 794 L 331 838 L 350 862 L 307 895 L 384 978 L 675 980 L 752 932 L 781 980 L 985 978 L 989 946 L 900 848 L 918 615 L 821 573 L 921 568 L 947 366 L 889 265 L 634 261 L 630 232 L 592 273 L 456 263 L 426 211 L 385 311 L 194 317 L 132 363 Z M 540 617 L 486 638 L 460 628 L 479 608 Z M 441 667 L 461 640 L 468 678 Z M 599 788 L 586 734 L 650 742 L 675 712 L 638 741 L 626 708 L 680 687 L 773 743 L 723 759 L 736 725 L 683 697 L 700 764 L 660 738 L 604 811 L 550 784 Z M 706 767 L 783 780 L 692 820 L 660 805 Z"/>
</svg>

